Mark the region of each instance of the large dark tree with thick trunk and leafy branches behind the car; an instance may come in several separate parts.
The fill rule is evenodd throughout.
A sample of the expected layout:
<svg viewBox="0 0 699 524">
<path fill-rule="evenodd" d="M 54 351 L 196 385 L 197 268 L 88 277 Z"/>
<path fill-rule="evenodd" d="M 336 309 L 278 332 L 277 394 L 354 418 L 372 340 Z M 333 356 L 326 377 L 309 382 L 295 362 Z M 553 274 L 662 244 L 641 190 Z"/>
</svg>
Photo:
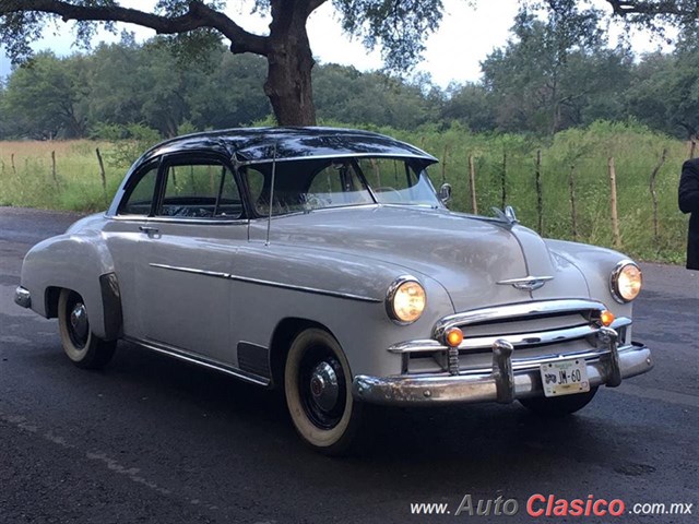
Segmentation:
<svg viewBox="0 0 699 524">
<path fill-rule="evenodd" d="M 224 0 L 158 0 L 153 11 L 123 8 L 116 0 L 0 0 L 0 44 L 13 61 L 31 55 L 29 43 L 55 19 L 75 21 L 78 39 L 87 44 L 96 23 L 114 27 L 127 22 L 158 34 L 176 35 L 193 49 L 221 37 L 234 53 L 251 52 L 266 59 L 264 93 L 281 124 L 316 122 L 311 87 L 313 57 L 306 23 L 328 0 L 254 0 L 271 15 L 268 35 L 245 29 L 224 12 Z M 381 47 L 387 66 L 404 69 L 418 59 L 423 39 L 438 26 L 441 0 L 332 0 L 343 28 Z"/>
</svg>

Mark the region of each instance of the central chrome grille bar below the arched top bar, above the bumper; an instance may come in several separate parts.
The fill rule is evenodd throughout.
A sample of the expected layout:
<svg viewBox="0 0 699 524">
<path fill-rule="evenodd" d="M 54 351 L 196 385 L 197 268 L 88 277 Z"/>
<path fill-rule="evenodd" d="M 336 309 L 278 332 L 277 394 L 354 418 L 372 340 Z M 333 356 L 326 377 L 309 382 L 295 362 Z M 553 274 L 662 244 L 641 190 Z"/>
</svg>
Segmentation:
<svg viewBox="0 0 699 524">
<path fill-rule="evenodd" d="M 618 330 L 631 325 L 631 319 L 619 317 L 615 319 L 611 327 Z M 479 336 L 473 338 L 464 338 L 459 346 L 460 350 L 483 349 L 491 347 L 497 340 L 501 340 L 512 344 L 517 349 L 528 346 L 541 346 L 556 344 L 561 342 L 574 341 L 600 333 L 601 327 L 591 324 L 578 325 L 560 330 L 532 332 L 532 333 L 513 333 L 509 335 Z M 389 347 L 390 353 L 408 354 L 408 353 L 434 353 L 446 352 L 449 347 L 440 344 L 431 338 L 420 341 L 406 341 L 393 344 Z"/>
</svg>

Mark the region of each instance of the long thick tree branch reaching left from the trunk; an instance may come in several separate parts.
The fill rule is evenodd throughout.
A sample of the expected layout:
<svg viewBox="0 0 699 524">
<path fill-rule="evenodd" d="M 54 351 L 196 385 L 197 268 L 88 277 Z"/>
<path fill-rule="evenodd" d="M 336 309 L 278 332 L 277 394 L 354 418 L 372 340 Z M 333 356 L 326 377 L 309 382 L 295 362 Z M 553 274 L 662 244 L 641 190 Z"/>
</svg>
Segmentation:
<svg viewBox="0 0 699 524">
<path fill-rule="evenodd" d="M 56 14 L 67 22 L 125 22 L 154 29 L 158 34 L 178 34 L 209 27 L 218 31 L 230 40 L 235 53 L 253 52 L 266 56 L 268 38 L 245 31 L 224 13 L 200 1 L 192 1 L 189 11 L 180 16 L 161 16 L 119 5 L 74 5 L 61 0 L 0 0 L 0 16 L 10 13 L 36 11 Z"/>
</svg>

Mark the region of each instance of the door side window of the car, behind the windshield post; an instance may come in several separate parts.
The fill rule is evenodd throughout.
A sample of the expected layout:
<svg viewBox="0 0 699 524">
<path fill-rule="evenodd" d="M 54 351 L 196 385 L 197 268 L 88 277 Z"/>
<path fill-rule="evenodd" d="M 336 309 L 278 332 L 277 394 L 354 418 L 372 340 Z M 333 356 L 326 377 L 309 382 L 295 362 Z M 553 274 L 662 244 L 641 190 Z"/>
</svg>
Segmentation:
<svg viewBox="0 0 699 524">
<path fill-rule="evenodd" d="M 209 160 L 169 164 L 157 216 L 239 218 L 240 193 L 233 172 Z"/>
</svg>

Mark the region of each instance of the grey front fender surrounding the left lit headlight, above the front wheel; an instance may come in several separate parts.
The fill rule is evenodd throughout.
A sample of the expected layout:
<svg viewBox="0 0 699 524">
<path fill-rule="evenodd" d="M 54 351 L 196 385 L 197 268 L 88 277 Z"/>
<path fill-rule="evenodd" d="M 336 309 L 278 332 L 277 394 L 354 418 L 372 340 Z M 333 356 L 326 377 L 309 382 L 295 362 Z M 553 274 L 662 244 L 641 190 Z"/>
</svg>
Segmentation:
<svg viewBox="0 0 699 524">
<path fill-rule="evenodd" d="M 354 374 L 401 372 L 391 345 L 429 338 L 436 322 L 454 312 L 449 295 L 428 275 L 346 251 L 251 242 L 236 253 L 233 319 L 240 340 L 269 347 L 274 326 L 304 318 L 327 327 L 342 346 Z M 427 294 L 427 308 L 410 325 L 393 322 L 386 310 L 389 286 L 412 274 Z M 264 281 L 283 282 L 284 287 Z M 327 293 L 332 291 L 332 293 Z M 344 295 L 344 296 L 343 296 Z"/>
</svg>

